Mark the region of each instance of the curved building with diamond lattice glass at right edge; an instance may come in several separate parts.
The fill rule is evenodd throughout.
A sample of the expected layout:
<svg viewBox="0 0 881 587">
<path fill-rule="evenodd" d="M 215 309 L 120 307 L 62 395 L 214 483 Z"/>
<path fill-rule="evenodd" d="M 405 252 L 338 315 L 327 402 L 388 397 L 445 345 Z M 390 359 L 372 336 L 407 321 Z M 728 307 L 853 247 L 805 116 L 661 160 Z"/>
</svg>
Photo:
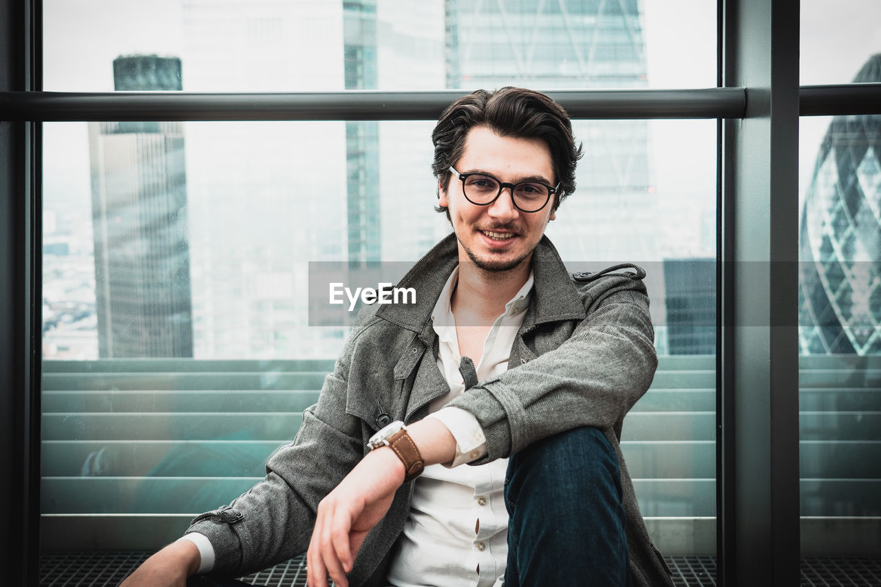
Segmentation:
<svg viewBox="0 0 881 587">
<path fill-rule="evenodd" d="M 881 82 L 881 54 L 854 82 Z M 881 115 L 833 118 L 799 248 L 801 353 L 881 354 Z"/>
</svg>

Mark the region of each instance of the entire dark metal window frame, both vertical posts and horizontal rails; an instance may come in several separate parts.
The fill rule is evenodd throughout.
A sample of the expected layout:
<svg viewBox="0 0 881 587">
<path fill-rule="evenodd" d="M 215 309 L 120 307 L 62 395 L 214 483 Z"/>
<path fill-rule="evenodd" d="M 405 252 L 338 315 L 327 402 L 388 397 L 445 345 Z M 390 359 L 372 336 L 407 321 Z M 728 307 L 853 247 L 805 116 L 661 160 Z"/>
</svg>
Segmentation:
<svg viewBox="0 0 881 587">
<path fill-rule="evenodd" d="M 797 0 L 717 4 L 719 87 L 549 94 L 574 118 L 719 120 L 718 583 L 795 585 L 796 332 L 768 317 L 795 314 L 796 281 L 750 280 L 740 262 L 797 259 L 798 115 L 877 114 L 881 84 L 799 88 Z M 424 120 L 463 94 L 43 93 L 41 10 L 0 0 L 0 553 L 12 584 L 35 583 L 39 556 L 41 122 Z"/>
</svg>

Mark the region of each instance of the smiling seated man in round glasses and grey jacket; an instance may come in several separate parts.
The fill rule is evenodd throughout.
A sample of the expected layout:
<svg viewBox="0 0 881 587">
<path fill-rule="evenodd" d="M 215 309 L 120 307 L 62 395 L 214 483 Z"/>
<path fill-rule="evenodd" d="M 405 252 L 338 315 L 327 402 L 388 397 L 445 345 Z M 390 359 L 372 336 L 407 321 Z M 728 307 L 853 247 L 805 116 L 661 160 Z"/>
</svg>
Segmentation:
<svg viewBox="0 0 881 587">
<path fill-rule="evenodd" d="M 672 584 L 618 447 L 657 364 L 644 273 L 570 277 L 544 237 L 581 156 L 565 111 L 478 91 L 433 142 L 454 234 L 398 284 L 417 302 L 362 310 L 266 479 L 126 587 L 303 552 L 312 587 Z"/>
</svg>

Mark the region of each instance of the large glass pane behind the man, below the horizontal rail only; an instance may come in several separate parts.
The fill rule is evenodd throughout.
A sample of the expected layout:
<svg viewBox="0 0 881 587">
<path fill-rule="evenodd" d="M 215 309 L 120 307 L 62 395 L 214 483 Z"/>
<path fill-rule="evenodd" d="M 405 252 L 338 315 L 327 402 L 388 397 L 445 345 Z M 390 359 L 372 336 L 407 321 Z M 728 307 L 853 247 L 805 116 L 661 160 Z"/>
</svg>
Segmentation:
<svg viewBox="0 0 881 587">
<path fill-rule="evenodd" d="M 715 123 L 575 127 L 548 234 L 571 271 L 648 271 L 661 364 L 622 447 L 663 552 L 714 554 Z M 308 263 L 411 264 L 448 233 L 432 128 L 45 125 L 47 547 L 113 516 L 108 548 L 159 546 L 262 477 L 347 331 L 309 325 Z"/>
</svg>

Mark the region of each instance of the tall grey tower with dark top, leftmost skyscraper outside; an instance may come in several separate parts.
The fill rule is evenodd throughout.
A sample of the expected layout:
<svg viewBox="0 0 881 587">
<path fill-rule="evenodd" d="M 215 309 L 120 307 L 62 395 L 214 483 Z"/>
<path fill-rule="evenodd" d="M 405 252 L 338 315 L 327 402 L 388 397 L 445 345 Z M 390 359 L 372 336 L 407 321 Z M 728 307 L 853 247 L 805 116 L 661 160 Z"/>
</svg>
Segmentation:
<svg viewBox="0 0 881 587">
<path fill-rule="evenodd" d="M 176 57 L 120 56 L 116 90 L 180 90 Z M 100 357 L 193 356 L 181 123 L 92 123 Z"/>
</svg>

